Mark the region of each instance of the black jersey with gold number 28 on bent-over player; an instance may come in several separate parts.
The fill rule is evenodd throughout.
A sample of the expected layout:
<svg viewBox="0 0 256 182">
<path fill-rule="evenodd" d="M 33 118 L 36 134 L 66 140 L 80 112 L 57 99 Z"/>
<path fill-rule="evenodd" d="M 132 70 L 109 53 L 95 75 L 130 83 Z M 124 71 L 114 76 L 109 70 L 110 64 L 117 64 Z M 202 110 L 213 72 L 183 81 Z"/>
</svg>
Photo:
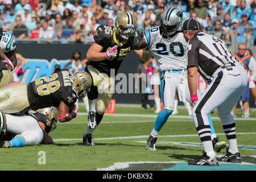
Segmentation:
<svg viewBox="0 0 256 182">
<path fill-rule="evenodd" d="M 67 69 L 61 69 L 49 77 L 41 77 L 28 84 L 27 96 L 33 110 L 58 107 L 61 101 L 71 107 L 77 100 L 76 89 Z"/>
</svg>

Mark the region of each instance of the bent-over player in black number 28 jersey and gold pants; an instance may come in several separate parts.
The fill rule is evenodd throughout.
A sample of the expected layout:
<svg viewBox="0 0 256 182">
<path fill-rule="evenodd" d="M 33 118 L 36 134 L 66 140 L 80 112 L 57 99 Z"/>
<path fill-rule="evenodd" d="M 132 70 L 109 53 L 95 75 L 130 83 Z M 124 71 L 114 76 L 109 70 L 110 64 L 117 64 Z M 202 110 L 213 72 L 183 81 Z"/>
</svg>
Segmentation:
<svg viewBox="0 0 256 182">
<path fill-rule="evenodd" d="M 41 77 L 30 84 L 9 84 L 0 89 L 0 109 L 7 114 L 22 114 L 44 107 L 58 107 L 60 122 L 77 115 L 75 102 L 90 89 L 92 78 L 84 71 L 73 75 L 62 69 L 49 77 Z"/>
</svg>

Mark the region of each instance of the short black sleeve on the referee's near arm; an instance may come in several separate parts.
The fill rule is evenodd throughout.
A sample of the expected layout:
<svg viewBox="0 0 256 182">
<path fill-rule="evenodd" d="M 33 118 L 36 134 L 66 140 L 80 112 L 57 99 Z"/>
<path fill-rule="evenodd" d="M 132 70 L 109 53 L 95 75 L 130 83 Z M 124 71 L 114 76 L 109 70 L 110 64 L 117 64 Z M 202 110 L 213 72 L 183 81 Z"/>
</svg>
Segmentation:
<svg viewBox="0 0 256 182">
<path fill-rule="evenodd" d="M 199 40 L 196 40 L 195 38 L 189 40 L 186 48 L 186 55 L 187 55 L 187 67 L 191 66 L 197 66 L 198 60 L 199 60 Z"/>
</svg>

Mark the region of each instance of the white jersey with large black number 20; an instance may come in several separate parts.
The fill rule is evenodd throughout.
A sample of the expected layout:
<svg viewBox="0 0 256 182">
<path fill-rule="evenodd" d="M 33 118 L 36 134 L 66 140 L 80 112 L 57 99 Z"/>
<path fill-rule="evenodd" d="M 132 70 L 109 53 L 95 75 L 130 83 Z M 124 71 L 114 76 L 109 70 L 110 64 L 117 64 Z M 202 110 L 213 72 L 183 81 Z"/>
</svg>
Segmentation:
<svg viewBox="0 0 256 182">
<path fill-rule="evenodd" d="M 158 63 L 158 72 L 172 69 L 187 69 L 185 48 L 187 42 L 183 33 L 177 33 L 171 40 L 164 39 L 159 27 L 148 28 L 144 33 L 147 49 Z"/>
</svg>

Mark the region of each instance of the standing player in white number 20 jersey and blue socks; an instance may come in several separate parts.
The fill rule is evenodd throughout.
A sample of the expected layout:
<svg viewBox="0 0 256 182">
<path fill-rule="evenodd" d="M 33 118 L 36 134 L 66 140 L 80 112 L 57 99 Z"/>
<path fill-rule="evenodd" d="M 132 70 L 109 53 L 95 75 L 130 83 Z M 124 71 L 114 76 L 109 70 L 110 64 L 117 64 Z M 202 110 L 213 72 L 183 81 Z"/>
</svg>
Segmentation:
<svg viewBox="0 0 256 182">
<path fill-rule="evenodd" d="M 147 150 L 155 150 L 159 131 L 174 111 L 176 90 L 180 101 L 186 103 L 187 100 L 191 103 L 187 80 L 187 56 L 185 54 L 187 42 L 182 32 L 180 32 L 182 18 L 183 13 L 179 9 L 170 7 L 164 11 L 161 25 L 148 28 L 144 33 L 144 41 L 140 42 L 140 44 L 146 44 L 146 49 L 158 62 L 158 72 L 160 72 L 161 80 L 160 95 L 164 105 L 164 109 L 156 118 L 154 129 L 147 139 Z M 199 90 L 197 91 L 200 96 Z M 210 115 L 208 117 L 214 150 L 220 152 L 226 147 L 226 143 L 218 142 L 212 119 Z"/>
</svg>

